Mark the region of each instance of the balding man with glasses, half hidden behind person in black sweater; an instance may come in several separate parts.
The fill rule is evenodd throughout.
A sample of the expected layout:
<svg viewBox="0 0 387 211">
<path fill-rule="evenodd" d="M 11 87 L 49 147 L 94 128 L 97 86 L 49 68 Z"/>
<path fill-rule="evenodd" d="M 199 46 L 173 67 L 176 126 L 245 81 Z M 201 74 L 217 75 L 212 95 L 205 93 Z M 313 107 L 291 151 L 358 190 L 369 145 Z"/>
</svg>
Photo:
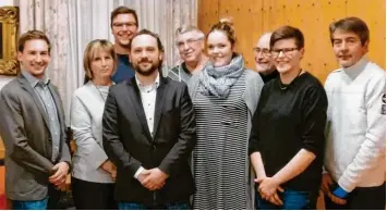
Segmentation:
<svg viewBox="0 0 387 211">
<path fill-rule="evenodd" d="M 259 73 L 265 84 L 278 77 L 278 71 L 276 71 L 270 53 L 270 37 L 271 33 L 263 34 L 256 47 L 253 48 L 255 70 Z"/>
</svg>

